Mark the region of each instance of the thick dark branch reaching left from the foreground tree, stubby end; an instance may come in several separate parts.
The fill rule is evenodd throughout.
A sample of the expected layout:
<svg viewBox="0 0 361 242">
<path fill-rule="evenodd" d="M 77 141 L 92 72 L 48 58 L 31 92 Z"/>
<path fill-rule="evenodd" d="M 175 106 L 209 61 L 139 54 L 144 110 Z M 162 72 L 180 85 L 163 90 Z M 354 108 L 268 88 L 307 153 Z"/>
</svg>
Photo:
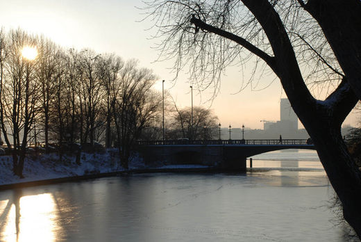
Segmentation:
<svg viewBox="0 0 361 242">
<path fill-rule="evenodd" d="M 224 31 L 223 29 L 219 29 L 210 24 L 206 24 L 201 19 L 197 19 L 196 17 L 194 17 L 194 15 L 192 15 L 192 19 L 190 19 L 190 22 L 196 26 L 196 29 L 199 28 L 199 29 L 203 29 L 205 31 L 209 31 L 211 33 L 215 33 L 216 35 L 227 38 L 228 40 L 233 40 L 237 44 L 242 45 L 242 47 L 248 49 L 249 51 L 251 51 L 251 53 L 262 58 L 262 60 L 265 61 L 267 63 L 267 65 L 269 65 L 269 67 L 271 67 L 271 69 L 278 75 L 274 57 L 269 56 L 269 54 L 265 53 L 265 51 L 258 49 L 258 47 L 255 47 L 254 45 L 252 45 L 250 42 L 248 42 L 244 38 L 242 38 L 238 35 L 235 35 L 233 33 L 230 33 L 228 31 Z"/>
</svg>

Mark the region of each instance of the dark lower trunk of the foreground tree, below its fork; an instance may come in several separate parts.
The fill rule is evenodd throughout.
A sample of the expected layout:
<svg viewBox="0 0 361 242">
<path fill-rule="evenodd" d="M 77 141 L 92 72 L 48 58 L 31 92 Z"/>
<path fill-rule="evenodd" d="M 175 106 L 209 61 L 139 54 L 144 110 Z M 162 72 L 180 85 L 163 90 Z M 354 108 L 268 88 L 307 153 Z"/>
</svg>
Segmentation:
<svg viewBox="0 0 361 242">
<path fill-rule="evenodd" d="M 326 122 L 307 126 L 330 183 L 342 202 L 344 218 L 361 238 L 360 171 L 347 151 L 341 127 L 330 127 Z"/>
</svg>

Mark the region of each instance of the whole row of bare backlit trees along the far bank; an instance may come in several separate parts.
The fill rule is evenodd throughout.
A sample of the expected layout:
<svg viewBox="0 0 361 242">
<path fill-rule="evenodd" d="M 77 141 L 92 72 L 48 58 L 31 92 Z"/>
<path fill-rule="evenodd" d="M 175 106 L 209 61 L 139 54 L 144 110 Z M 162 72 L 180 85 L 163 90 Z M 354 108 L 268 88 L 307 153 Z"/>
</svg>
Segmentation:
<svg viewBox="0 0 361 242">
<path fill-rule="evenodd" d="M 22 55 L 24 47 L 36 48 L 36 58 Z M 135 140 L 162 138 L 156 81 L 152 70 L 138 67 L 136 60 L 65 50 L 43 36 L 1 29 L 0 128 L 14 174 L 22 177 L 28 145 L 40 143 L 47 152 L 56 144 L 60 159 L 70 145 L 80 163 L 81 146 L 74 143 L 92 147 L 101 141 L 117 147 L 120 165 L 128 168 Z M 194 107 L 190 129 L 190 108 L 183 109 L 169 108 L 167 102 L 167 138 L 201 138 L 203 124 L 210 136 L 217 120 L 212 111 Z"/>
</svg>

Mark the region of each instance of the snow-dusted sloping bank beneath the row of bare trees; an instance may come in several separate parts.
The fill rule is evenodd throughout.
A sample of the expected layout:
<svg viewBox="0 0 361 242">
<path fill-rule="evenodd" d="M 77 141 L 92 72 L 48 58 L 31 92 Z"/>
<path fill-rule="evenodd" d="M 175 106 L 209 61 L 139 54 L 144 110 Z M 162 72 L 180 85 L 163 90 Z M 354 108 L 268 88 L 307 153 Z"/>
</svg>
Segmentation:
<svg viewBox="0 0 361 242">
<path fill-rule="evenodd" d="M 129 170 L 165 170 L 165 169 L 208 168 L 199 165 L 169 165 L 158 167 L 144 166 L 142 159 L 135 156 L 129 162 Z M 31 154 L 25 160 L 23 175 L 25 178 L 12 174 L 12 156 L 0 156 L 0 186 L 28 181 L 42 181 L 64 177 L 77 177 L 92 174 L 121 172 L 117 150 L 106 150 L 103 154 L 81 154 L 81 165 L 76 164 L 76 156 L 64 154 L 60 161 L 58 154 Z"/>
</svg>

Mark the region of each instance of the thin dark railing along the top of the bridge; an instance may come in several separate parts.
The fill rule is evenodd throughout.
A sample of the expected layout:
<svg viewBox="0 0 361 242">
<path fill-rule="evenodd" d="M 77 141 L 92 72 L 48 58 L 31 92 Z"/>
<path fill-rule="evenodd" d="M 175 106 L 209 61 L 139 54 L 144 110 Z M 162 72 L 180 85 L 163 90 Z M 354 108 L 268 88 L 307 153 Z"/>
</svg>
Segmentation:
<svg viewBox="0 0 361 242">
<path fill-rule="evenodd" d="M 308 145 L 305 139 L 283 140 L 137 140 L 137 145 Z"/>
</svg>

